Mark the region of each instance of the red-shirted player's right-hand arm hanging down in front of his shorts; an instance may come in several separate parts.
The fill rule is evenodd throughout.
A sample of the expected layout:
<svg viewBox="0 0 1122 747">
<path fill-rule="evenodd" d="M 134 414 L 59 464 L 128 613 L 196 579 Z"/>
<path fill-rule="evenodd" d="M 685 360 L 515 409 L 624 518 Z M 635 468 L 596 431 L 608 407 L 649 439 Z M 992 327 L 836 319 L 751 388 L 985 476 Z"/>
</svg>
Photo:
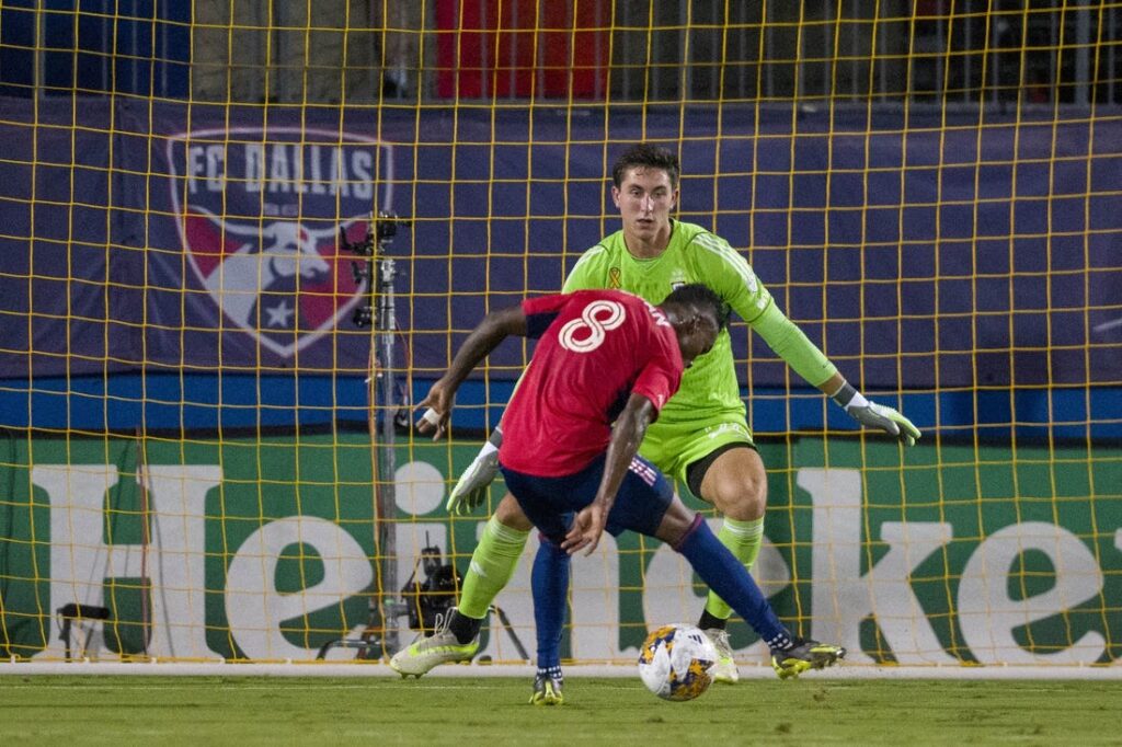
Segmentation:
<svg viewBox="0 0 1122 747">
<path fill-rule="evenodd" d="M 582 548 L 590 555 L 600 543 L 600 535 L 608 522 L 608 513 L 619 492 L 627 469 L 643 443 L 646 426 L 654 419 L 657 411 L 654 403 L 644 395 L 633 393 L 627 405 L 616 418 L 611 427 L 611 440 L 608 442 L 608 453 L 604 463 L 604 476 L 592 502 L 582 508 L 573 518 L 569 534 L 561 542 L 561 548 L 570 555 Z"/>
</svg>

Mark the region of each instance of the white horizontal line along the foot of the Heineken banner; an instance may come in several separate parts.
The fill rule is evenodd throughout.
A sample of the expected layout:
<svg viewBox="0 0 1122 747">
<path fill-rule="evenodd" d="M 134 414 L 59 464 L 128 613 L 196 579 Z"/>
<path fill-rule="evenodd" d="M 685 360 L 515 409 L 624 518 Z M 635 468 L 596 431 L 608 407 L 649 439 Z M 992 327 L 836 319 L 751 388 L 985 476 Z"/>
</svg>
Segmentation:
<svg viewBox="0 0 1122 747">
<path fill-rule="evenodd" d="M 771 680 L 770 666 L 741 665 L 741 677 Z M 386 664 L 356 662 L 324 664 L 292 662 L 277 664 L 212 663 L 121 663 L 121 662 L 4 662 L 3 675 L 156 675 L 156 676 L 264 676 L 264 677 L 398 677 Z M 571 664 L 567 677 L 637 677 L 634 666 L 625 664 Z M 460 664 L 440 666 L 427 677 L 533 676 L 528 664 Z M 813 680 L 1119 680 L 1122 666 L 875 666 L 849 664 L 804 675 Z"/>
</svg>

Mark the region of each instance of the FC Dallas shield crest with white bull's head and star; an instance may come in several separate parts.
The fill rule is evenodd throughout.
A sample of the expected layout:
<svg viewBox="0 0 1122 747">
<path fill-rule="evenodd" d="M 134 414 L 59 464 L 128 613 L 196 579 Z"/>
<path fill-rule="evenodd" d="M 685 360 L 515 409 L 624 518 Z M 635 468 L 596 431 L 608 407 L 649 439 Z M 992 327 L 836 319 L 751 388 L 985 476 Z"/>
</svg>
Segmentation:
<svg viewBox="0 0 1122 747">
<path fill-rule="evenodd" d="M 360 240 L 371 212 L 392 209 L 388 145 L 301 128 L 203 130 L 169 138 L 167 159 L 184 252 L 229 322 L 287 358 L 359 303 L 339 229 Z"/>
</svg>

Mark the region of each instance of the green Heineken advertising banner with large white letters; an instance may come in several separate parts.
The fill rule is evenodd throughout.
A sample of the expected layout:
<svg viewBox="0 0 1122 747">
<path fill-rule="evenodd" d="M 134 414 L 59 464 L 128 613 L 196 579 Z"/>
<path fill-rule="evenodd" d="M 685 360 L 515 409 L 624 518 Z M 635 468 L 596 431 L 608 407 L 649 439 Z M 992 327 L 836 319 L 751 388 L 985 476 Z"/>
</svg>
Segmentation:
<svg viewBox="0 0 1122 747">
<path fill-rule="evenodd" d="M 59 609 L 102 657 L 306 661 L 360 635 L 436 548 L 462 573 L 486 520 L 443 504 L 476 443 L 406 443 L 376 480 L 369 439 L 9 440 L 0 462 L 0 654 L 63 658 Z M 1084 446 L 765 442 L 766 537 L 753 570 L 781 617 L 852 663 L 1091 664 L 1122 656 L 1122 458 Z M 381 536 L 375 486 L 392 488 Z M 493 488 L 493 500 L 502 496 Z M 386 495 L 389 495 L 388 492 Z M 703 508 L 687 498 L 695 508 Z M 720 519 L 709 519 L 714 527 Z M 533 655 L 527 553 L 481 656 Z M 390 554 L 392 553 L 392 554 Z M 417 578 L 419 578 L 417 577 Z M 656 541 L 573 561 L 564 653 L 632 658 L 705 589 Z M 392 619 L 403 640 L 407 618 Z M 763 654 L 743 622 L 743 660 Z M 92 637 L 91 637 L 92 636 Z M 519 648 L 519 646 L 522 648 Z M 94 646 L 96 647 L 96 646 Z M 353 658 L 332 648 L 328 658 Z"/>
</svg>

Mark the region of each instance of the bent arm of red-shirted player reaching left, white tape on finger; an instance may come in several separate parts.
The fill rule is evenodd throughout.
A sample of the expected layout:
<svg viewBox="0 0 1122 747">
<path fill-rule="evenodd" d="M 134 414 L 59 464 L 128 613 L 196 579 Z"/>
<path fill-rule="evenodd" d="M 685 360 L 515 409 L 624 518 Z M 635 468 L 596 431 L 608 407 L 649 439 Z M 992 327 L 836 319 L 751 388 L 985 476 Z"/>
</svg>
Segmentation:
<svg viewBox="0 0 1122 747">
<path fill-rule="evenodd" d="M 491 312 L 479 322 L 456 352 L 444 376 L 432 385 L 429 396 L 417 404 L 419 407 L 429 408 L 417 421 L 417 431 L 432 433 L 433 441 L 444 435 L 456 390 L 479 361 L 512 334 L 526 335 L 526 314 L 521 305 Z"/>
</svg>

